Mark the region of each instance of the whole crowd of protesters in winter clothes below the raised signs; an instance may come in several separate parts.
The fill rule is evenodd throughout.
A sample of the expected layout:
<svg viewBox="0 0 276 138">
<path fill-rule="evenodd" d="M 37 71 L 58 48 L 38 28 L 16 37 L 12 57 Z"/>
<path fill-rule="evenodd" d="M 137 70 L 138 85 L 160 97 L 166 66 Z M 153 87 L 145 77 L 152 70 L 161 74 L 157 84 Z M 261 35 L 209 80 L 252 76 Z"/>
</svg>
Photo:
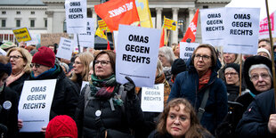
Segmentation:
<svg viewBox="0 0 276 138">
<path fill-rule="evenodd" d="M 275 137 L 270 41 L 256 55 L 199 45 L 188 61 L 179 45 L 159 48 L 155 84 L 164 85 L 163 112 L 142 111 L 142 88 L 116 81 L 116 53 L 85 49 L 57 58 L 58 45 L 5 46 L 0 55 L 0 134 L 3 137 Z M 1 46 L 0 46 L 1 48 Z M 275 45 L 276 48 L 276 45 Z M 275 49 L 274 49 L 275 50 Z M 56 79 L 47 126 L 20 132 L 24 82 Z M 89 82 L 82 88 L 83 82 Z"/>
</svg>

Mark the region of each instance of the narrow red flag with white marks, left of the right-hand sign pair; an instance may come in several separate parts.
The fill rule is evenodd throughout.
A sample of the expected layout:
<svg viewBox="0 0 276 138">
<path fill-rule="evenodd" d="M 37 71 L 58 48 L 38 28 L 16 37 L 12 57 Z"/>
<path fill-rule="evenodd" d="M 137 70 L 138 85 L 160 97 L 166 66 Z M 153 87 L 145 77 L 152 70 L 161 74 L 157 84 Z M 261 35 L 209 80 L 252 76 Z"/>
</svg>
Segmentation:
<svg viewBox="0 0 276 138">
<path fill-rule="evenodd" d="M 197 32 L 197 24 L 198 24 L 198 16 L 199 16 L 199 9 L 197 10 L 196 14 L 194 15 L 189 28 L 187 29 L 185 36 L 181 40 L 181 42 L 186 42 L 188 38 L 191 39 L 191 43 L 195 42 L 196 40 L 196 32 Z"/>
</svg>

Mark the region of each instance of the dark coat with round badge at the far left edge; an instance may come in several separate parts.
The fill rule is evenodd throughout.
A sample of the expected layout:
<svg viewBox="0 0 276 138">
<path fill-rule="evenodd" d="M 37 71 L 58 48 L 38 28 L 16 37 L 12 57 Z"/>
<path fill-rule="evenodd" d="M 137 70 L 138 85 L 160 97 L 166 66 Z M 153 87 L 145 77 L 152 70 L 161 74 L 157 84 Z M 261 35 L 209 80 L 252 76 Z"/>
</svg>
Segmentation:
<svg viewBox="0 0 276 138">
<path fill-rule="evenodd" d="M 5 109 L 3 103 L 5 101 L 11 101 L 11 109 Z M 18 115 L 18 95 L 15 91 L 9 87 L 4 87 L 4 90 L 0 92 L 0 124 L 8 127 L 8 137 L 17 137 L 18 127 L 17 127 L 17 115 Z"/>
</svg>

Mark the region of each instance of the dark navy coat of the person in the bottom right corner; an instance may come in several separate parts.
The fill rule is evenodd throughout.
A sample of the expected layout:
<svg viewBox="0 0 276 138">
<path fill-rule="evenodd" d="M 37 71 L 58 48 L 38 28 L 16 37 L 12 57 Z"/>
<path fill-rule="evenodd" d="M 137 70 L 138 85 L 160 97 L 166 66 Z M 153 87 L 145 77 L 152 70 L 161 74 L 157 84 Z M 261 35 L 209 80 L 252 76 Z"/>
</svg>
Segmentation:
<svg viewBox="0 0 276 138">
<path fill-rule="evenodd" d="M 236 133 L 241 138 L 276 137 L 276 134 L 270 134 L 268 130 L 270 115 L 275 113 L 273 89 L 256 95 L 239 121 Z"/>
</svg>

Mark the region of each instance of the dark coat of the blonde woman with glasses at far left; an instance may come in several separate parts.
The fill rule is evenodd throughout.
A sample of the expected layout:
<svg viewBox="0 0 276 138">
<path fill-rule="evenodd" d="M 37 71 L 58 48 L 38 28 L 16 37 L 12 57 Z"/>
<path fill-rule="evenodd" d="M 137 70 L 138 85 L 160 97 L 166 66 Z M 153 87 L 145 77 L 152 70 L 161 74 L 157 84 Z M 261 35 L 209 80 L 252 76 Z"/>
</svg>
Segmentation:
<svg viewBox="0 0 276 138">
<path fill-rule="evenodd" d="M 23 89 L 23 85 L 24 85 L 24 81 L 29 79 L 29 73 L 24 73 L 21 77 L 19 77 L 17 80 L 15 80 L 14 82 L 12 82 L 9 87 L 18 93 L 18 97 L 20 98 L 22 89 Z"/>
</svg>

